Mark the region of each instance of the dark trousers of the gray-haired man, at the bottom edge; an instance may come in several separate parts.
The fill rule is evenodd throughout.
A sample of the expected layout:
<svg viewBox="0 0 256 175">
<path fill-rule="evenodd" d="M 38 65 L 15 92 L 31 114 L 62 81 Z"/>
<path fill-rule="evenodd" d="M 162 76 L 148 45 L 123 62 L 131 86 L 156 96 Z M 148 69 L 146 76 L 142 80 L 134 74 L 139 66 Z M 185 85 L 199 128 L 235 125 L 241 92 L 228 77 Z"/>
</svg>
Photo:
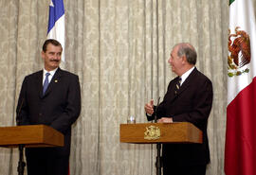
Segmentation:
<svg viewBox="0 0 256 175">
<path fill-rule="evenodd" d="M 163 166 L 163 175 L 205 175 L 206 165 Z"/>
</svg>

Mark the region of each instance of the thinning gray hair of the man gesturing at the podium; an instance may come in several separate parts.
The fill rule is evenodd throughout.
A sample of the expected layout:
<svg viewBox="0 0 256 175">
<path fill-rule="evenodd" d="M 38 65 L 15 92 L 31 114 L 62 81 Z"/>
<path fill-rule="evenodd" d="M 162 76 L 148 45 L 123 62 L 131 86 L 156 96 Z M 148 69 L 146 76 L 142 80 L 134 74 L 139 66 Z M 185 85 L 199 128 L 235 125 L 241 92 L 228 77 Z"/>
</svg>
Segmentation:
<svg viewBox="0 0 256 175">
<path fill-rule="evenodd" d="M 187 61 L 190 64 L 195 65 L 197 54 L 192 44 L 182 43 L 182 44 L 176 44 L 175 46 L 178 46 L 178 51 L 177 51 L 178 57 L 182 57 L 185 55 L 187 58 Z"/>
</svg>

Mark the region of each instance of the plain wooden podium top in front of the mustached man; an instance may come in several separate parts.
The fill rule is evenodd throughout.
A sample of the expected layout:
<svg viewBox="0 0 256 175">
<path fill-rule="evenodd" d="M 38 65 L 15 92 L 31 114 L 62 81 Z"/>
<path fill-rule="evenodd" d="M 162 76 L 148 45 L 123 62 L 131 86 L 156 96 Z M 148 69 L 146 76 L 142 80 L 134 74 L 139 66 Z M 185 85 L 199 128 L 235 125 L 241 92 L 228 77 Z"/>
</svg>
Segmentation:
<svg viewBox="0 0 256 175">
<path fill-rule="evenodd" d="M 0 147 L 63 147 L 64 135 L 46 125 L 0 127 Z"/>
</svg>

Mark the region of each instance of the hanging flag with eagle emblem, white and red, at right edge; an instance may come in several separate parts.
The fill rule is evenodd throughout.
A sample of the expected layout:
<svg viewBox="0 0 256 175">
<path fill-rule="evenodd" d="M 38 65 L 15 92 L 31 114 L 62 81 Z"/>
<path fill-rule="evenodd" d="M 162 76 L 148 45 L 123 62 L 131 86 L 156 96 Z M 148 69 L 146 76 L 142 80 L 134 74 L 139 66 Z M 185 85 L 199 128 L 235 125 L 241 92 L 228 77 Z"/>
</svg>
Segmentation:
<svg viewBox="0 0 256 175">
<path fill-rule="evenodd" d="M 256 175 L 256 26 L 251 0 L 229 0 L 226 175 Z"/>
</svg>

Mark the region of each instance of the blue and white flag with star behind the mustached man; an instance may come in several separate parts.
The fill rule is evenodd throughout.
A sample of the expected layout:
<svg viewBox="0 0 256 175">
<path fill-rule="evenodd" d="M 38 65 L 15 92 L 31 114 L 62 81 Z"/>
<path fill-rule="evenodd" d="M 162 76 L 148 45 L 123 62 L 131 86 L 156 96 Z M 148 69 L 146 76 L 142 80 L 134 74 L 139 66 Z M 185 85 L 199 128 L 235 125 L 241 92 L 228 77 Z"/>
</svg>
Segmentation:
<svg viewBox="0 0 256 175">
<path fill-rule="evenodd" d="M 63 46 L 64 61 L 64 1 L 51 0 L 49 5 L 49 21 L 47 39 L 55 39 Z"/>
</svg>

